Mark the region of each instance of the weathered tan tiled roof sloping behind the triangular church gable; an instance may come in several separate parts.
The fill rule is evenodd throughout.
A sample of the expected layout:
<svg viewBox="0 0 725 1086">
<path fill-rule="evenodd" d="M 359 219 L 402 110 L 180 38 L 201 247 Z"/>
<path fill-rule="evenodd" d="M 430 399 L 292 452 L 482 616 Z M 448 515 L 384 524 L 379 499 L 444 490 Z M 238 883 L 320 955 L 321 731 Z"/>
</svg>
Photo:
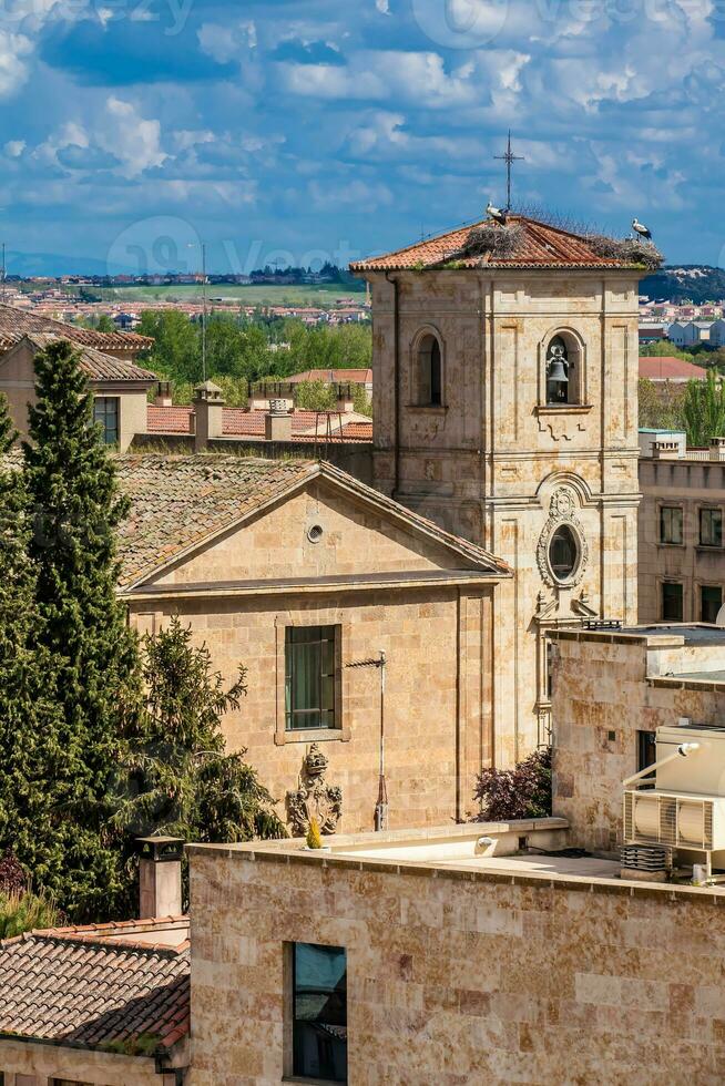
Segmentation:
<svg viewBox="0 0 725 1086">
<path fill-rule="evenodd" d="M 122 455 L 115 460 L 131 512 L 119 529 L 121 587 L 130 587 L 182 557 L 246 514 L 316 478 L 337 482 L 388 511 L 437 543 L 486 570 L 508 574 L 506 563 L 482 547 L 445 532 L 370 486 L 325 462 L 233 455 Z"/>
</svg>

